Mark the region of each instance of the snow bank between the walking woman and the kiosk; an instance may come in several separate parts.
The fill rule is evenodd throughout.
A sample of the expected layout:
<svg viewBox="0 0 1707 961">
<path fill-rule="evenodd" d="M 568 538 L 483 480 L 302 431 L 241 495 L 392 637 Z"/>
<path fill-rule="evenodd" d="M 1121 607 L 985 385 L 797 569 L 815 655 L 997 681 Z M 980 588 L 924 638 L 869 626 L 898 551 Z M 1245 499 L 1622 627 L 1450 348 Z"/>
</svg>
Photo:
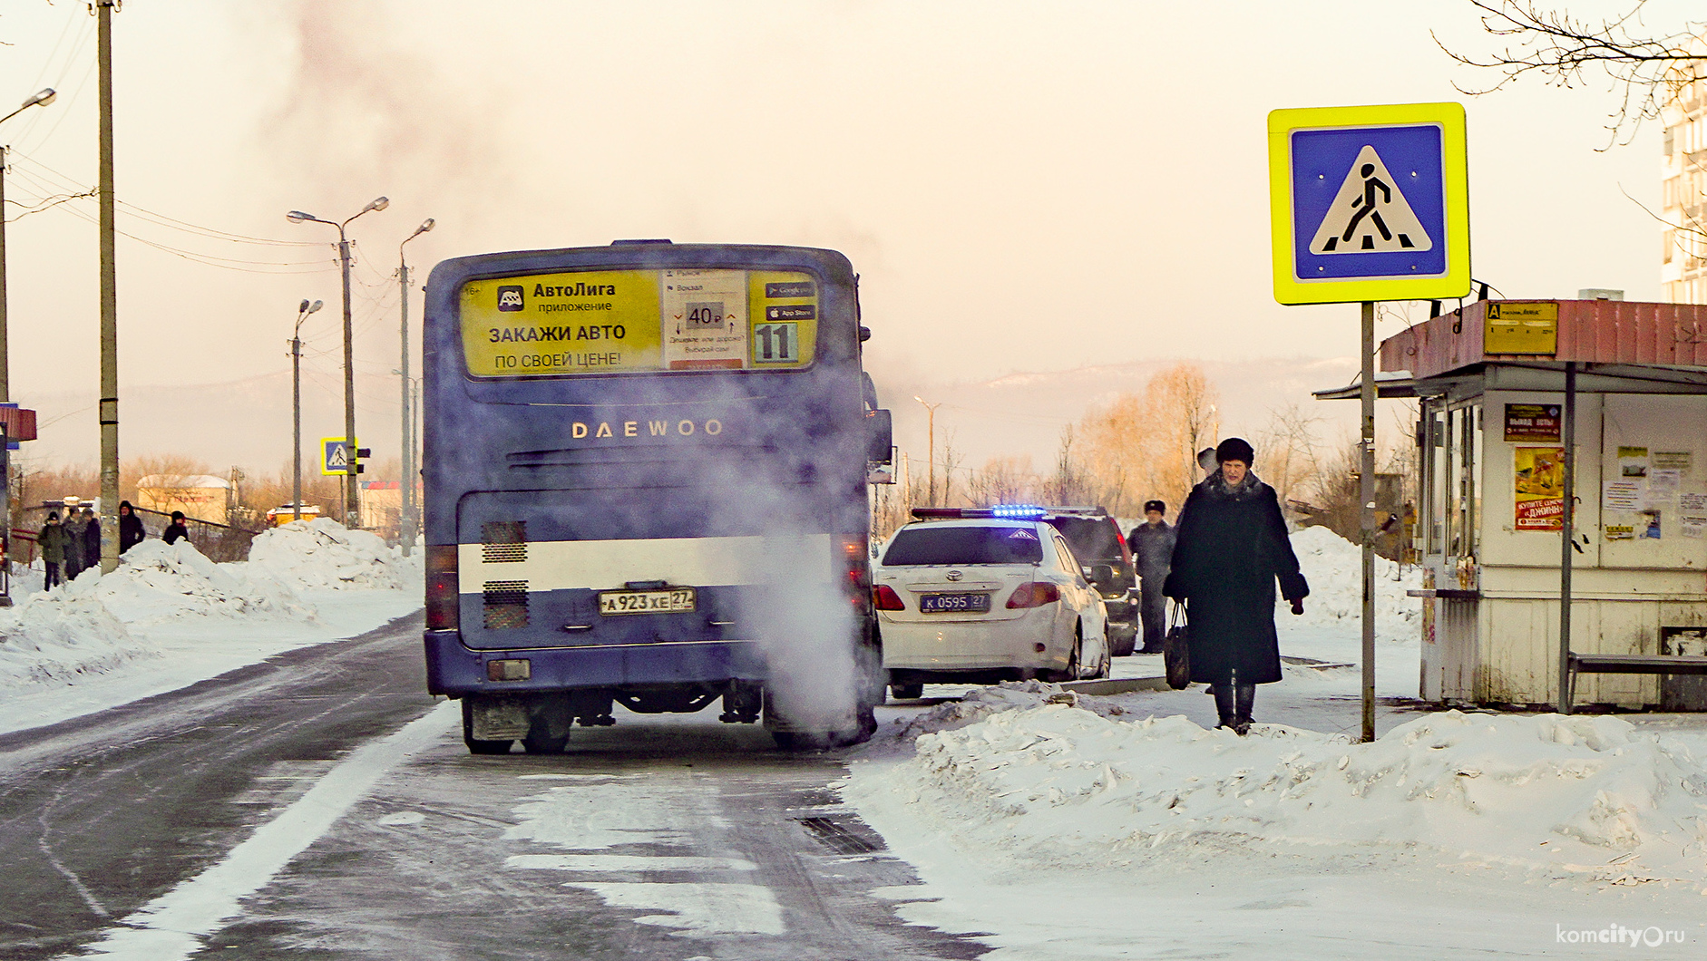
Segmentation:
<svg viewBox="0 0 1707 961">
<path fill-rule="evenodd" d="M 1309 580 L 1304 614 L 1294 618 L 1285 601 L 1275 611 L 1301 626 L 1359 625 L 1364 616 L 1362 548 L 1326 527 L 1304 527 L 1292 534 L 1292 551 Z M 1419 637 L 1422 601 L 1405 596 L 1422 587 L 1422 570 L 1401 568 L 1376 556 L 1376 640 L 1400 644 Z M 1277 618 L 1279 620 L 1279 618 Z"/>
</svg>

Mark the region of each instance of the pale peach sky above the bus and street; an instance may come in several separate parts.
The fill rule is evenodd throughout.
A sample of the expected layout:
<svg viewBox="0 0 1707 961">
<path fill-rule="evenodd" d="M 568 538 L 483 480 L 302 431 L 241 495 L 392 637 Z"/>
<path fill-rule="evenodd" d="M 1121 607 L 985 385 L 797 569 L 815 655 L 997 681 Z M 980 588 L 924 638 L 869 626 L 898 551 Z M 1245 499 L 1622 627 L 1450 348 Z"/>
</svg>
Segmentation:
<svg viewBox="0 0 1707 961">
<path fill-rule="evenodd" d="M 425 217 L 422 282 L 447 256 L 618 237 L 840 249 L 869 365 L 908 394 L 1092 362 L 1343 357 L 1355 306 L 1282 307 L 1270 288 L 1265 114 L 1297 106 L 1463 101 L 1475 275 L 1509 297 L 1656 299 L 1659 225 L 1637 201 L 1657 210 L 1657 126 L 1598 152 L 1605 84 L 1465 97 L 1453 80 L 1490 77 L 1430 29 L 1495 43 L 1461 0 L 128 0 L 121 387 L 288 370 L 309 297 L 326 309 L 304 328 L 304 389 L 336 393 L 336 237 L 283 213 L 343 218 L 379 195 L 391 208 L 352 225 L 365 374 L 398 365 L 398 242 Z M 60 89 L 0 128 L 12 396 L 92 394 L 94 201 L 20 215 L 94 186 L 94 19 L 14 0 L 0 43 L 0 113 Z M 358 418 L 394 420 L 382 394 Z M 92 437 L 94 413 L 72 425 Z M 126 452 L 160 449 L 126 430 Z"/>
</svg>

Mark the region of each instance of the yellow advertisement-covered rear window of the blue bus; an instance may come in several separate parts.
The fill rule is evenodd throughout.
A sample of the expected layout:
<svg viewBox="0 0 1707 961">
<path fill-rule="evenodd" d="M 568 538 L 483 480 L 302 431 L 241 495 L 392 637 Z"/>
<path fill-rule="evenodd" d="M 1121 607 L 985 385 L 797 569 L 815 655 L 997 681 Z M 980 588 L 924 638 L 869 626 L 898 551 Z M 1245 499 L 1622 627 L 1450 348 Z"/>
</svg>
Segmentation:
<svg viewBox="0 0 1707 961">
<path fill-rule="evenodd" d="M 789 370 L 818 347 L 821 283 L 782 270 L 589 270 L 471 280 L 473 377 Z"/>
</svg>

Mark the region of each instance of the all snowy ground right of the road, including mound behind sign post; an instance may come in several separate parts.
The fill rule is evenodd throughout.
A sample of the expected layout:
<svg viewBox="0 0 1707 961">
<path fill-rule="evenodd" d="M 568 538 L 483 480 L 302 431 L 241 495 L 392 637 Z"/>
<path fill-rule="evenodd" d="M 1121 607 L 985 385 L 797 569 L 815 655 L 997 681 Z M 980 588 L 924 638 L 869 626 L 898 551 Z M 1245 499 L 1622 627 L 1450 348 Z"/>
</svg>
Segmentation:
<svg viewBox="0 0 1707 961">
<path fill-rule="evenodd" d="M 1700 956 L 1707 719 L 1420 710 L 1415 584 L 1388 567 L 1388 702 L 1357 744 L 1357 551 L 1294 545 L 1313 596 L 1277 613 L 1280 650 L 1354 667 L 1287 666 L 1250 737 L 1212 729 L 1202 686 L 886 712 L 843 797 L 925 881 L 893 891 L 901 917 L 1000 961 Z"/>
</svg>

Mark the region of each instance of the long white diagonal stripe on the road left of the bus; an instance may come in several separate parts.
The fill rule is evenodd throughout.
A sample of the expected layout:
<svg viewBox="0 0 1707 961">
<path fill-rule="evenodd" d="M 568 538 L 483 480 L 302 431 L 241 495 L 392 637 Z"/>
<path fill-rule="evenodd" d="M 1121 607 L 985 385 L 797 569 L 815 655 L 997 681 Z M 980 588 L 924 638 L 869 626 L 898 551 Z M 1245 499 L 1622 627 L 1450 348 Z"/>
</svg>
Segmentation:
<svg viewBox="0 0 1707 961">
<path fill-rule="evenodd" d="M 430 748 L 461 719 L 454 702 L 405 724 L 396 734 L 364 744 L 326 772 L 307 794 L 230 848 L 224 860 L 149 901 L 106 929 L 77 958 L 184 961 L 205 939 L 242 913 L 242 898 L 324 835 L 379 778 L 410 754 Z"/>
</svg>

